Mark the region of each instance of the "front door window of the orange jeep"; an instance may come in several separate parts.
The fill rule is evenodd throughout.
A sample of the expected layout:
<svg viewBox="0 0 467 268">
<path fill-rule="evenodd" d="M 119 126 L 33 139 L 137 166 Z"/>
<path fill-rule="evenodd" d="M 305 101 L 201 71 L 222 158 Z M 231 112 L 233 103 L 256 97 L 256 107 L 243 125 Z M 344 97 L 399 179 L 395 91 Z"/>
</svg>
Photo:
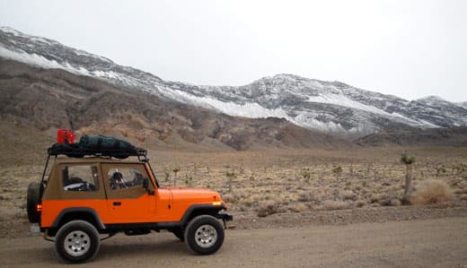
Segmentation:
<svg viewBox="0 0 467 268">
<path fill-rule="evenodd" d="M 107 174 L 109 176 L 110 189 L 126 189 L 134 186 L 143 185 L 143 174 L 139 169 L 120 168 L 109 169 Z"/>
</svg>

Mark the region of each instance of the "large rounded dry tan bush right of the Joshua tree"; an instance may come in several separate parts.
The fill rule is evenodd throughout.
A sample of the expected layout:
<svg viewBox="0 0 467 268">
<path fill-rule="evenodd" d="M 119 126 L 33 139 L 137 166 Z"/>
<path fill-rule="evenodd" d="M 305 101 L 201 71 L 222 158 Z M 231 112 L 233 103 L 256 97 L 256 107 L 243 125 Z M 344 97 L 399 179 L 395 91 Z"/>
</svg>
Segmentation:
<svg viewBox="0 0 467 268">
<path fill-rule="evenodd" d="M 440 179 L 428 179 L 422 182 L 417 193 L 412 198 L 412 203 L 449 203 L 453 200 L 453 190 L 445 181 Z"/>
</svg>

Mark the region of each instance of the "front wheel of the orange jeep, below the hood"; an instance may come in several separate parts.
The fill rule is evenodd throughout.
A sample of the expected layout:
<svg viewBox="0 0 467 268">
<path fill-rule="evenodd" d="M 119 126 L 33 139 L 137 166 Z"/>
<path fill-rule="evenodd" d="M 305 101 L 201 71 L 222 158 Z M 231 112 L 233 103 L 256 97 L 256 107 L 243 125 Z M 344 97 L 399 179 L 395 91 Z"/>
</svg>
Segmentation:
<svg viewBox="0 0 467 268">
<path fill-rule="evenodd" d="M 185 243 L 195 254 L 215 253 L 224 243 L 222 224 L 210 215 L 193 218 L 185 229 Z"/>
</svg>

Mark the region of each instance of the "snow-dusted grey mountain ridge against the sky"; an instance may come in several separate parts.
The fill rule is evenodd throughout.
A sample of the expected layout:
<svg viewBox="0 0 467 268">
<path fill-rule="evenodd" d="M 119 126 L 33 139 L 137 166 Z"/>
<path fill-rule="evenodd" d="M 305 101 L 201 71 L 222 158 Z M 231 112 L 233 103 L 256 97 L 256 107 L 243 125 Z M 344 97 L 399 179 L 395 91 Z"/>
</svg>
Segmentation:
<svg viewBox="0 0 467 268">
<path fill-rule="evenodd" d="M 147 91 L 231 116 L 281 117 L 295 125 L 346 137 L 399 128 L 467 125 L 465 102 L 433 96 L 409 101 L 293 74 L 264 77 L 237 87 L 169 82 L 106 57 L 6 27 L 0 28 L 0 56 L 92 76 L 128 90 Z"/>
</svg>

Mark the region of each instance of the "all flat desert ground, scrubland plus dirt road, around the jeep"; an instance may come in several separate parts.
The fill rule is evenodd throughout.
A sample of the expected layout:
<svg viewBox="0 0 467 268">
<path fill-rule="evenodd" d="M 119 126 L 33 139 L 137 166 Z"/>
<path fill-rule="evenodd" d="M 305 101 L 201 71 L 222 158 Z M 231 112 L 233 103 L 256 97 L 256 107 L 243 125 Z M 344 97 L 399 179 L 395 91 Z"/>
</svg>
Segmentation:
<svg viewBox="0 0 467 268">
<path fill-rule="evenodd" d="M 401 204 L 404 151 L 416 158 L 410 205 Z M 57 264 L 53 245 L 28 233 L 26 189 L 40 179 L 45 161 L 45 154 L 35 155 L 0 165 L 0 266 Z M 225 246 L 199 257 L 171 234 L 119 235 L 102 243 L 95 265 L 467 265 L 467 148 L 164 148 L 150 150 L 149 158 L 161 186 L 206 187 L 223 195 L 234 214 Z"/>
</svg>

